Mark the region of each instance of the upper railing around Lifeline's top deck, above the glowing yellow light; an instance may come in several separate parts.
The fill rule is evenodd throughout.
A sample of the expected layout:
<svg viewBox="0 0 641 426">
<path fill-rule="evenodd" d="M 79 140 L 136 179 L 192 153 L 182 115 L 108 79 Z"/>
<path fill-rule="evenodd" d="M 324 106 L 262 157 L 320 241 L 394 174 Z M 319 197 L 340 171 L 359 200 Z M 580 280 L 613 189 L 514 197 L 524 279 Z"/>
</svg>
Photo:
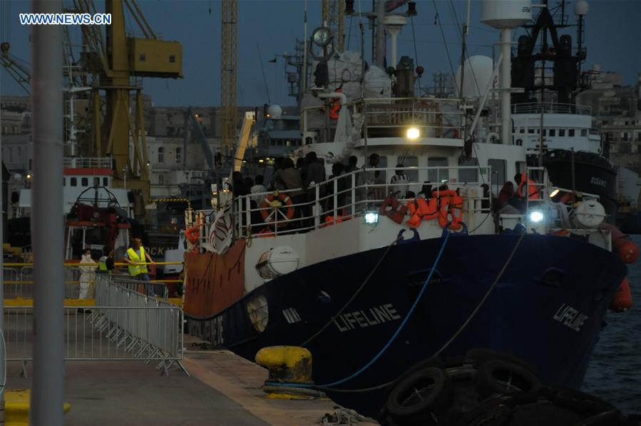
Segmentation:
<svg viewBox="0 0 641 426">
<path fill-rule="evenodd" d="M 330 107 L 331 108 L 331 107 Z M 325 106 L 310 106 L 301 111 L 303 134 L 322 133 L 324 127 L 335 127 L 337 121 L 329 118 Z M 441 98 L 360 98 L 347 103 L 352 118 L 364 116 L 364 134 L 370 138 L 405 137 L 409 127 L 419 128 L 421 137 L 459 138 L 465 123 L 461 99 Z M 324 116 L 314 125 L 312 114 Z M 321 140 L 322 141 L 322 140 Z"/>
</svg>

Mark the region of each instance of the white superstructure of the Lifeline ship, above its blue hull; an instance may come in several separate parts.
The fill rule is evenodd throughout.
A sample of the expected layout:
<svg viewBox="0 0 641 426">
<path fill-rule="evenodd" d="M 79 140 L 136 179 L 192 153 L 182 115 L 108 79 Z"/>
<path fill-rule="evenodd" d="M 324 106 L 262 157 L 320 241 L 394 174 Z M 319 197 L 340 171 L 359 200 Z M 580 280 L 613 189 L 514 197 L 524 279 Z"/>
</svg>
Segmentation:
<svg viewBox="0 0 641 426">
<path fill-rule="evenodd" d="M 454 208 L 450 213 L 462 219 L 469 234 L 494 234 L 491 200 L 505 181 L 513 181 L 516 173 L 526 170 L 525 146 L 473 143 L 468 149 L 469 158 L 465 158 L 462 106 L 461 101 L 453 99 L 361 99 L 346 103 L 329 131 L 314 126 L 311 118 L 320 113 L 317 107 L 305 108 L 304 146 L 296 155 L 314 151 L 324 163 L 326 180 L 307 191 L 238 197 L 227 213 L 188 214 L 188 226 L 200 228 L 196 244 L 203 251 L 220 251 L 232 238 L 247 241 L 245 287 L 250 291 L 270 279 L 269 273 L 260 272 L 256 265 L 265 263 L 267 253 L 276 248 L 286 247 L 279 253 L 286 253 L 291 260 L 282 265 L 296 263 L 296 267 L 302 267 L 385 247 L 399 238 L 399 232 L 404 233 L 404 238 L 411 238 L 414 230 L 408 223 L 412 217 L 409 210 L 390 213 L 381 210 L 381 205 L 392 195 L 394 201 L 409 208 L 418 203 L 417 197 L 425 196 L 421 191 L 426 186 L 431 186 L 431 191 L 446 186 L 451 195 L 458 191 L 458 210 Z M 343 121 L 345 118 L 349 126 Z M 352 120 L 356 125 L 351 125 Z M 372 153 L 379 155 L 375 167 L 367 164 Z M 333 164 L 346 165 L 350 156 L 358 158 L 357 170 L 330 178 Z M 401 166 L 396 167 L 398 164 Z M 399 171 L 406 181 L 392 183 Z M 431 191 L 427 191 L 428 197 L 436 198 L 434 202 L 438 201 L 441 208 L 448 196 Z M 451 201 L 457 202 L 453 198 Z M 450 213 L 446 207 L 446 215 Z M 391 218 L 395 214 L 396 220 Z M 509 219 L 506 228 L 519 221 L 528 229 L 538 226 L 528 223 L 525 214 Z M 227 233 L 222 231 L 225 227 Z M 437 238 L 443 233 L 443 222 L 436 215 L 424 217 L 414 229 L 421 239 Z M 462 225 L 458 231 L 464 231 Z"/>
</svg>

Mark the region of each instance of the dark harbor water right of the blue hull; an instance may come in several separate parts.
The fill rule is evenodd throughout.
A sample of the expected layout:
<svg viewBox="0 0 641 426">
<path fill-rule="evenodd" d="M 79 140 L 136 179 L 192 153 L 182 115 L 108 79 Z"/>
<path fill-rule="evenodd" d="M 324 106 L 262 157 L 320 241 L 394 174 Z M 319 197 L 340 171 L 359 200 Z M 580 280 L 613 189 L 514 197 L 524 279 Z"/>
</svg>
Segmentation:
<svg viewBox="0 0 641 426">
<path fill-rule="evenodd" d="M 641 235 L 632 235 L 641 246 Z M 641 414 L 641 261 L 629 265 L 634 306 L 608 313 L 607 326 L 590 361 L 583 391 L 611 402 L 625 414 Z"/>
</svg>

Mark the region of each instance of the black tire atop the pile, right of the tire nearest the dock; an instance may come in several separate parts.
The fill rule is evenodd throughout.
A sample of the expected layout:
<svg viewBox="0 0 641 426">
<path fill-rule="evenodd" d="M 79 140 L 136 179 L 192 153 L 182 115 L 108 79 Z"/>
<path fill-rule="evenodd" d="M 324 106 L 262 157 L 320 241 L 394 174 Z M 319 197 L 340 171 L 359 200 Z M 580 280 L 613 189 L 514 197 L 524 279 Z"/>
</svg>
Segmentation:
<svg viewBox="0 0 641 426">
<path fill-rule="evenodd" d="M 499 381 L 497 375 L 508 373 L 510 380 L 516 380 L 515 385 L 518 390 L 507 389 Z M 474 378 L 476 389 L 483 397 L 488 397 L 495 393 L 500 395 L 510 395 L 518 398 L 521 402 L 535 401 L 537 392 L 542 386 L 538 377 L 533 375 L 530 370 L 513 362 L 503 360 L 491 360 L 481 364 Z"/>
</svg>

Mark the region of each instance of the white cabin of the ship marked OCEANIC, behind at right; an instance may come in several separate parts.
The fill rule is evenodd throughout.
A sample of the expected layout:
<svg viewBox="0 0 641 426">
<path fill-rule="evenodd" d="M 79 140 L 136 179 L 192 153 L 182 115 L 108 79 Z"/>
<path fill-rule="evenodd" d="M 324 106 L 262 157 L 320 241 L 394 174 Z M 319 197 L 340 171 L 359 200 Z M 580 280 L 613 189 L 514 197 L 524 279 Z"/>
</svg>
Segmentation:
<svg viewBox="0 0 641 426">
<path fill-rule="evenodd" d="M 591 108 L 570 103 L 518 103 L 512 106 L 513 138 L 528 154 L 538 154 L 543 111 L 543 149 L 602 153 L 592 127 Z"/>
</svg>

